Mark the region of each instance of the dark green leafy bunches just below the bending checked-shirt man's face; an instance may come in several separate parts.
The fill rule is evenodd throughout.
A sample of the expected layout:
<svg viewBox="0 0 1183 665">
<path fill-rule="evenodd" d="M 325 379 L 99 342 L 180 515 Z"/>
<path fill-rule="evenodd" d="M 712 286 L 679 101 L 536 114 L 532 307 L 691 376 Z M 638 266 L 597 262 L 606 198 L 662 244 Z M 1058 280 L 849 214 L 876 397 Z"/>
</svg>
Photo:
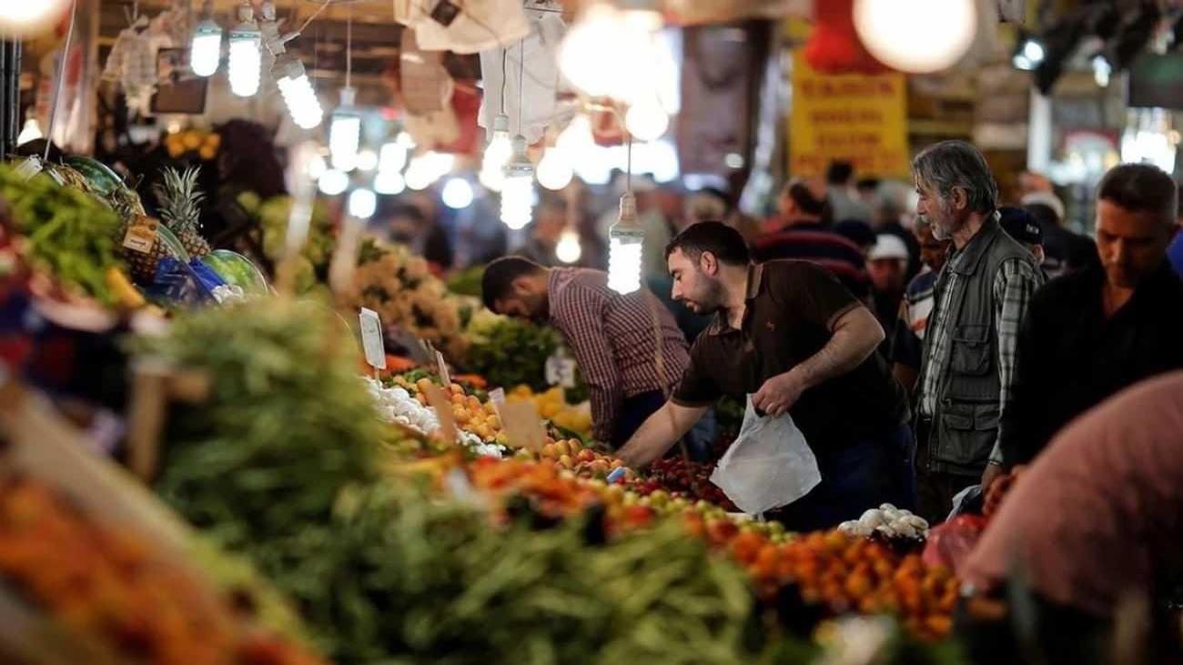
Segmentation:
<svg viewBox="0 0 1183 665">
<path fill-rule="evenodd" d="M 549 329 L 487 311 L 473 317 L 467 329 L 465 369 L 484 376 L 490 386 L 547 385 L 547 359 L 558 348 L 558 335 Z"/>
</svg>

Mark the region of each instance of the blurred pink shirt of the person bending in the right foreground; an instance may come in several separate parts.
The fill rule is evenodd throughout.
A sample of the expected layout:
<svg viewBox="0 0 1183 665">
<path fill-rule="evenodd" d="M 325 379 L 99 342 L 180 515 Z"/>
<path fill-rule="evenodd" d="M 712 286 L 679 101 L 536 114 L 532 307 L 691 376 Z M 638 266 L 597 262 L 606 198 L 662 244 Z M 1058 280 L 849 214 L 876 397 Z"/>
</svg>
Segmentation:
<svg viewBox="0 0 1183 665">
<path fill-rule="evenodd" d="M 1045 598 L 1110 614 L 1181 562 L 1183 372 L 1069 424 L 1016 483 L 965 566 L 988 588 L 1014 566 Z"/>
</svg>

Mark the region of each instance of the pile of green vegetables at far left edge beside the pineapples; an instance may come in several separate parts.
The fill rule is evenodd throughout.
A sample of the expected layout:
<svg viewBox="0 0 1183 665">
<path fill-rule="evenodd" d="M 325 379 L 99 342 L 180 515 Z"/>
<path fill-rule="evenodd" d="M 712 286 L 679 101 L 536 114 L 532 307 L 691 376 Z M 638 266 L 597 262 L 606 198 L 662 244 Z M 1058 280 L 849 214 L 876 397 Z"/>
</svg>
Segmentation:
<svg viewBox="0 0 1183 665">
<path fill-rule="evenodd" d="M 26 257 L 34 267 L 102 303 L 116 302 L 106 283 L 106 271 L 122 265 L 116 253 L 122 221 L 115 212 L 47 175 L 25 180 L 2 164 L 0 198 L 28 241 Z"/>
</svg>

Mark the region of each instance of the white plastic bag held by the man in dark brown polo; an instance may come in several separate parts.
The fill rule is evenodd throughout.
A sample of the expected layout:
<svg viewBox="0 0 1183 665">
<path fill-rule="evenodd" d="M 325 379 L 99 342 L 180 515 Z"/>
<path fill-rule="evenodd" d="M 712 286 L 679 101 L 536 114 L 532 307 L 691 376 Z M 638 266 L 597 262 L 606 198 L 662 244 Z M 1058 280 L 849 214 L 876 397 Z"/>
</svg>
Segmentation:
<svg viewBox="0 0 1183 665">
<path fill-rule="evenodd" d="M 821 472 L 793 418 L 788 413 L 756 415 L 748 395 L 739 435 L 715 467 L 711 482 L 739 510 L 759 515 L 809 493 L 821 482 Z"/>
</svg>

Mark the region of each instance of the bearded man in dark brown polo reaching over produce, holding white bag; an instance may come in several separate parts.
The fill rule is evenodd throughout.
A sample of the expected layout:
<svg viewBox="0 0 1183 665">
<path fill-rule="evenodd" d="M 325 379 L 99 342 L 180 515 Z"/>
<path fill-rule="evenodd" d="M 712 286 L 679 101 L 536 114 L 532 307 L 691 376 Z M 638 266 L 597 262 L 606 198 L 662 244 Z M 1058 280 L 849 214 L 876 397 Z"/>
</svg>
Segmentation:
<svg viewBox="0 0 1183 665">
<path fill-rule="evenodd" d="M 691 349 L 673 396 L 621 448 L 641 467 L 664 454 L 723 395 L 770 415 L 790 413 L 822 482 L 778 517 L 795 529 L 854 519 L 883 502 L 914 502 L 907 402 L 874 353 L 874 315 L 809 262 L 751 264 L 743 238 L 718 222 L 691 226 L 666 248 L 673 298 L 716 314 Z"/>
</svg>

